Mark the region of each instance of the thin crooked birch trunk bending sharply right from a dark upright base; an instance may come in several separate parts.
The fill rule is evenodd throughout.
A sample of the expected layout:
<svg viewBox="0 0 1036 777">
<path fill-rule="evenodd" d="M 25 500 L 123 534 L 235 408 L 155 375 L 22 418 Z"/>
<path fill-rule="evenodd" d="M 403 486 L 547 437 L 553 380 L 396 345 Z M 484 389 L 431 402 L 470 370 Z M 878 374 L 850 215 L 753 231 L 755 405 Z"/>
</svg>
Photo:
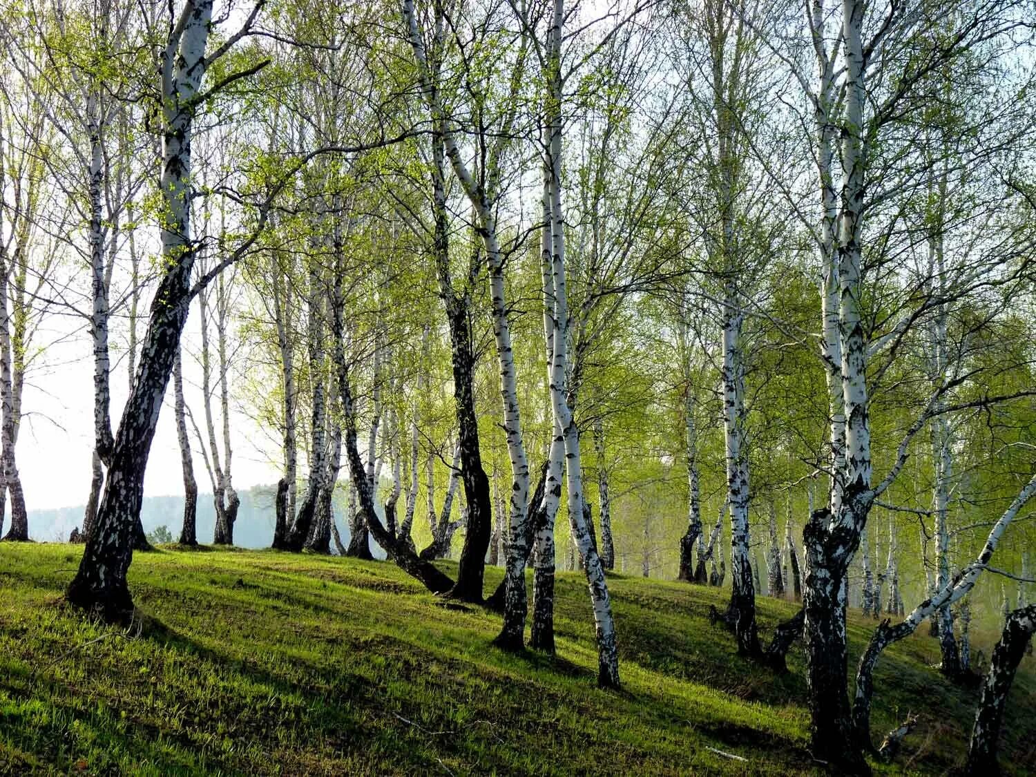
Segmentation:
<svg viewBox="0 0 1036 777">
<path fill-rule="evenodd" d="M 949 581 L 940 588 L 934 596 L 925 599 L 915 607 L 902 623 L 896 626 L 889 626 L 889 620 L 886 618 L 879 624 L 877 629 L 870 638 L 870 642 L 867 644 L 867 650 L 860 659 L 860 665 L 856 672 L 856 698 L 853 704 L 853 725 L 857 742 L 861 747 L 867 749 L 871 747 L 870 703 L 873 696 L 873 672 L 882 652 L 893 642 L 897 642 L 913 634 L 925 618 L 930 617 L 932 613 L 938 612 L 942 607 L 952 606 L 954 602 L 962 599 L 975 587 L 975 583 L 978 581 L 982 570 L 988 566 L 989 560 L 992 558 L 992 554 L 997 550 L 1004 531 L 1034 494 L 1036 494 L 1036 474 L 1032 477 L 1025 488 L 1014 497 L 1014 501 L 1011 502 L 994 524 L 989 536 L 986 538 L 985 545 L 982 547 L 982 551 L 974 562 L 968 565 L 954 580 Z"/>
</svg>

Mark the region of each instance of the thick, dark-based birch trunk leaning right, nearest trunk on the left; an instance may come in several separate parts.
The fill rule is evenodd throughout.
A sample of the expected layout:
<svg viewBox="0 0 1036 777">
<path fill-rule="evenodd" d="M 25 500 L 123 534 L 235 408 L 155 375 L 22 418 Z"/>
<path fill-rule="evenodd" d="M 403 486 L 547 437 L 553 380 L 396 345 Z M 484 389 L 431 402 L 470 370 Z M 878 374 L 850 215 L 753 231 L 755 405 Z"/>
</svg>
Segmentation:
<svg viewBox="0 0 1036 777">
<path fill-rule="evenodd" d="M 191 240 L 191 131 L 195 98 L 205 74 L 211 0 L 188 0 L 169 32 L 162 56 L 162 257 L 159 283 L 137 379 L 115 436 L 97 522 L 88 538 L 68 601 L 106 620 L 133 610 L 126 570 L 140 517 L 144 469 L 159 411 L 186 320 L 195 244 Z"/>
</svg>

